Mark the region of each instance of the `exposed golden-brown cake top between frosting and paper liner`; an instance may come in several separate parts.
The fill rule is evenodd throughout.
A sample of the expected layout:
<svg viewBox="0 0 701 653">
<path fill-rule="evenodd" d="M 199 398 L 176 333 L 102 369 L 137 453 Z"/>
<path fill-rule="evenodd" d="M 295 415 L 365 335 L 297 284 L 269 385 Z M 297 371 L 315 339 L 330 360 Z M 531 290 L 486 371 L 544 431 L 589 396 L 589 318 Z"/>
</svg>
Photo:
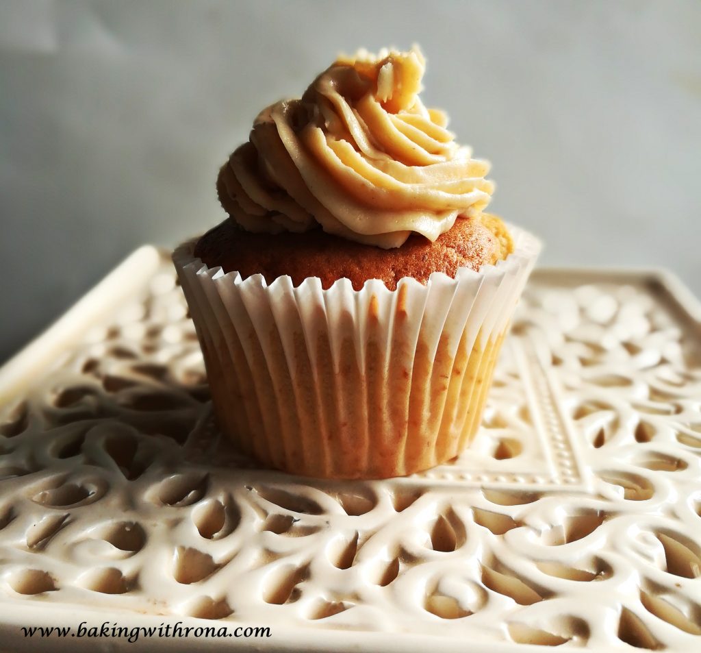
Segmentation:
<svg viewBox="0 0 701 653">
<path fill-rule="evenodd" d="M 479 270 L 508 256 L 512 242 L 501 220 L 488 214 L 459 218 L 454 227 L 431 243 L 412 234 L 393 250 L 363 245 L 326 234 L 320 229 L 302 234 L 253 234 L 232 220 L 207 231 L 195 249 L 207 267 L 238 271 L 243 278 L 262 274 L 267 283 L 289 275 L 295 286 L 318 276 L 323 288 L 348 278 L 355 290 L 380 279 L 390 290 L 405 276 L 426 283 L 433 272 L 454 277 L 458 268 Z"/>
</svg>

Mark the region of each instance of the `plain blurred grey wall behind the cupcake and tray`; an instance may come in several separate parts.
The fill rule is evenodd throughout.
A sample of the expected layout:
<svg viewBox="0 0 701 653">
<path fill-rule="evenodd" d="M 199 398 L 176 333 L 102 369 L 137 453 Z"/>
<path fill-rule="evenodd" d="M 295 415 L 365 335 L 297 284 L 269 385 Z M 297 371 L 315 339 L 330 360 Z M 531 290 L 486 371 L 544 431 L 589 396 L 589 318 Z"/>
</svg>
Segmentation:
<svg viewBox="0 0 701 653">
<path fill-rule="evenodd" d="M 0 0 L 0 360 L 130 250 L 222 220 L 217 169 L 338 51 L 417 42 L 542 264 L 701 294 L 701 2 Z"/>
</svg>

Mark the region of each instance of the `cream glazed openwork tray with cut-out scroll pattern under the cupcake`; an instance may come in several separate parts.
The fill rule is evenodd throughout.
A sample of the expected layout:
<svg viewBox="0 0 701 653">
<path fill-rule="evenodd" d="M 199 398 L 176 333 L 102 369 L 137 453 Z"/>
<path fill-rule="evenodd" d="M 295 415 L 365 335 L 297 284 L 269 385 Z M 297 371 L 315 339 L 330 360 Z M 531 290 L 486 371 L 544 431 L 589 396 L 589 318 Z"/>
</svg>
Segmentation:
<svg viewBox="0 0 701 653">
<path fill-rule="evenodd" d="M 0 434 L 6 651 L 701 648 L 701 309 L 663 272 L 536 271 L 470 450 L 333 483 L 219 438 L 142 248 L 0 370 Z"/>
</svg>

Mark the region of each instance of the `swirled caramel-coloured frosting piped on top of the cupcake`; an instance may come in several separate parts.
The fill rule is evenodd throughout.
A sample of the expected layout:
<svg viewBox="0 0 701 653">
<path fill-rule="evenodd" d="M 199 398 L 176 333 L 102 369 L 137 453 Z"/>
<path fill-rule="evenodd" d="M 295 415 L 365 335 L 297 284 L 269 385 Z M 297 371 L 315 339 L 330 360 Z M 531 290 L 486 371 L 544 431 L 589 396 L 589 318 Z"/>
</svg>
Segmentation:
<svg viewBox="0 0 701 653">
<path fill-rule="evenodd" d="M 426 68 L 408 53 L 341 57 L 301 98 L 264 109 L 217 179 L 222 206 L 247 231 L 307 231 L 382 248 L 412 231 L 430 241 L 476 217 L 489 163 L 456 144 L 447 116 L 418 97 Z"/>
</svg>

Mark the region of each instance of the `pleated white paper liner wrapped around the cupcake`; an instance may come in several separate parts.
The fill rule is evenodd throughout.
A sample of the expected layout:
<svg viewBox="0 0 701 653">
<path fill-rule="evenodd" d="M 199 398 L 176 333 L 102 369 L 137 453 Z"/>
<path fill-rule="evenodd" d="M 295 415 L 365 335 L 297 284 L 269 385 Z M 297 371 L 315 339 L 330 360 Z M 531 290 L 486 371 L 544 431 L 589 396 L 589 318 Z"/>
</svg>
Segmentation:
<svg viewBox="0 0 701 653">
<path fill-rule="evenodd" d="M 219 426 L 267 466 L 320 478 L 428 469 L 472 439 L 540 244 L 479 272 L 353 290 L 208 269 L 196 241 L 173 254 Z"/>
</svg>

